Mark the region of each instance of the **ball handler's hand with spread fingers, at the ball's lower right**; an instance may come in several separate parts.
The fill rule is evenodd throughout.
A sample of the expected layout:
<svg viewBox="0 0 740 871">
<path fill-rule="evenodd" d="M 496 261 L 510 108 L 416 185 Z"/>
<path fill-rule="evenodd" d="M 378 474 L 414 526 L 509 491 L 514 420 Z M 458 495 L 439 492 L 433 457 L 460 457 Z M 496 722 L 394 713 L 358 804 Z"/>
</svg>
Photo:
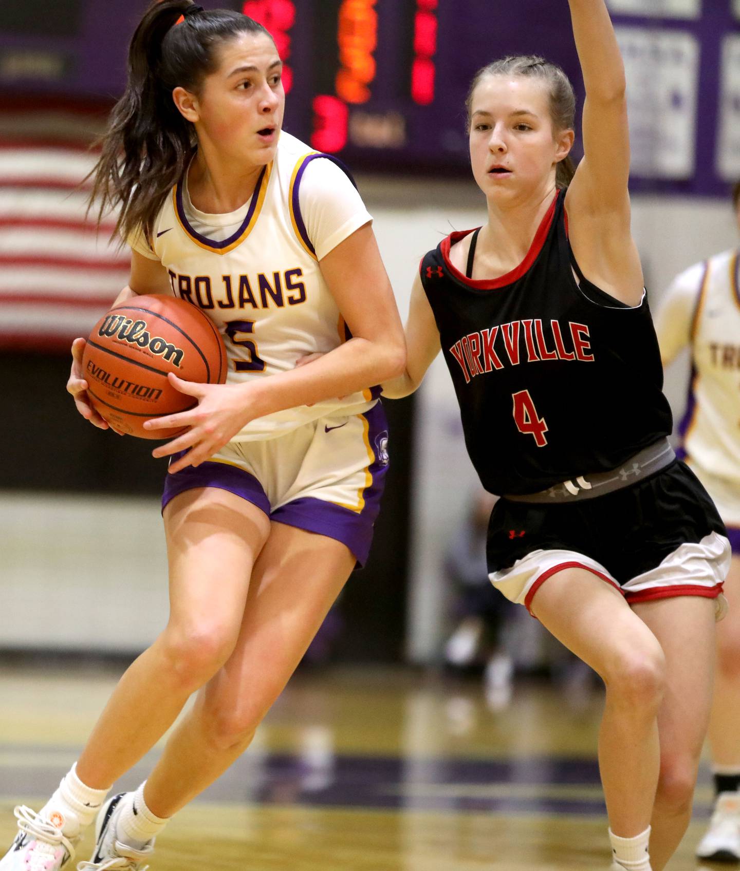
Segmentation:
<svg viewBox="0 0 740 871">
<path fill-rule="evenodd" d="M 174 463 L 170 463 L 171 473 L 179 472 L 186 466 L 200 466 L 209 456 L 219 451 L 252 419 L 249 409 L 245 408 L 243 395 L 234 395 L 234 387 L 229 384 L 196 384 L 193 381 L 183 381 L 177 375 L 168 376 L 174 388 L 193 396 L 198 400 L 195 408 L 180 411 L 176 415 L 158 417 L 146 421 L 145 429 L 172 429 L 174 427 L 190 427 L 187 433 L 173 439 L 172 442 L 160 445 L 152 451 L 152 456 L 170 456 L 180 450 L 187 454 Z"/>
</svg>

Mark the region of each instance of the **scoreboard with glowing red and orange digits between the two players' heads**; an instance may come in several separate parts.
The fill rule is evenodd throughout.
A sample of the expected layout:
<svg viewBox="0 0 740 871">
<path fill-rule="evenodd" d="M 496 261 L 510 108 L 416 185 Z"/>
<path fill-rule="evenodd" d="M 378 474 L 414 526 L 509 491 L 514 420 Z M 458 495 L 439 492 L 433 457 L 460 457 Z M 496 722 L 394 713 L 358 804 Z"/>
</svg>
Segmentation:
<svg viewBox="0 0 740 871">
<path fill-rule="evenodd" d="M 567 14 L 539 33 L 531 24 L 541 19 L 542 0 L 229 5 L 275 36 L 288 70 L 286 129 L 357 167 L 466 172 L 467 89 L 502 54 L 547 54 L 578 80 Z"/>
</svg>

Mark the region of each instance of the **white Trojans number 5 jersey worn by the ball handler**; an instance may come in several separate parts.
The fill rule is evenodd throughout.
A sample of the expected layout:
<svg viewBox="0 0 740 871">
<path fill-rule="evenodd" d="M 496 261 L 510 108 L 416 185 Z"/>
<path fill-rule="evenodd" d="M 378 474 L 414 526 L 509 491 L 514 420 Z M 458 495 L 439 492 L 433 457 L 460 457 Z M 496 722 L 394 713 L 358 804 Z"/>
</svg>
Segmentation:
<svg viewBox="0 0 740 871">
<path fill-rule="evenodd" d="M 224 241 L 193 229 L 183 207 L 183 182 L 154 222 L 152 249 L 170 275 L 173 294 L 199 306 L 221 332 L 227 383 L 288 372 L 306 354 L 326 353 L 349 338 L 299 205 L 303 172 L 317 157 L 329 156 L 282 132 L 241 227 Z M 356 226 L 343 228 L 344 238 L 369 219 L 358 213 Z M 362 414 L 375 402 L 377 391 L 365 390 L 289 408 L 248 423 L 233 441 L 282 436 L 320 417 Z"/>
</svg>

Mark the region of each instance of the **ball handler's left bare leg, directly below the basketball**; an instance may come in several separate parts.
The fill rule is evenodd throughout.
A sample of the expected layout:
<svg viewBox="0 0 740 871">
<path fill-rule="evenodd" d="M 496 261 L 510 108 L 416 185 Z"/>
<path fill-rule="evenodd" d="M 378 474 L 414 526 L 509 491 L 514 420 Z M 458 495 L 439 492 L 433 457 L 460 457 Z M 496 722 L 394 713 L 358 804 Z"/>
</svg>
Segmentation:
<svg viewBox="0 0 740 871">
<path fill-rule="evenodd" d="M 165 530 L 169 622 L 126 671 L 87 741 L 77 773 L 88 787 L 111 787 L 231 655 L 269 520 L 227 490 L 187 490 L 167 505 Z"/>
</svg>

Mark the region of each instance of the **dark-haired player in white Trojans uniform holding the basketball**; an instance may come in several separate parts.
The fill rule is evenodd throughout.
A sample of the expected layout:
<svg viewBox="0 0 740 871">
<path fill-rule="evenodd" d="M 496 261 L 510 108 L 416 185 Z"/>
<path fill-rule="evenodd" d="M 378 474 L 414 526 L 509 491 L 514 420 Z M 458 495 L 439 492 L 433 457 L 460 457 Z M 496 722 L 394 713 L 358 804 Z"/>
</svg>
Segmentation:
<svg viewBox="0 0 740 871">
<path fill-rule="evenodd" d="M 119 300 L 199 306 L 230 372 L 226 385 L 173 378 L 198 404 L 153 422 L 188 427 L 153 451 L 172 457 L 169 623 L 51 799 L 16 808 L 2 871 L 71 865 L 96 815 L 79 868 L 143 868 L 166 821 L 248 746 L 367 557 L 388 463 L 370 388 L 403 371 L 403 328 L 350 179 L 281 132 L 281 67 L 261 25 L 189 0 L 153 3 L 133 36 L 95 184 L 132 246 Z M 105 429 L 85 394 L 84 345 L 68 389 Z M 321 360 L 295 368 L 313 352 Z M 196 691 L 146 782 L 108 799 Z"/>
</svg>

